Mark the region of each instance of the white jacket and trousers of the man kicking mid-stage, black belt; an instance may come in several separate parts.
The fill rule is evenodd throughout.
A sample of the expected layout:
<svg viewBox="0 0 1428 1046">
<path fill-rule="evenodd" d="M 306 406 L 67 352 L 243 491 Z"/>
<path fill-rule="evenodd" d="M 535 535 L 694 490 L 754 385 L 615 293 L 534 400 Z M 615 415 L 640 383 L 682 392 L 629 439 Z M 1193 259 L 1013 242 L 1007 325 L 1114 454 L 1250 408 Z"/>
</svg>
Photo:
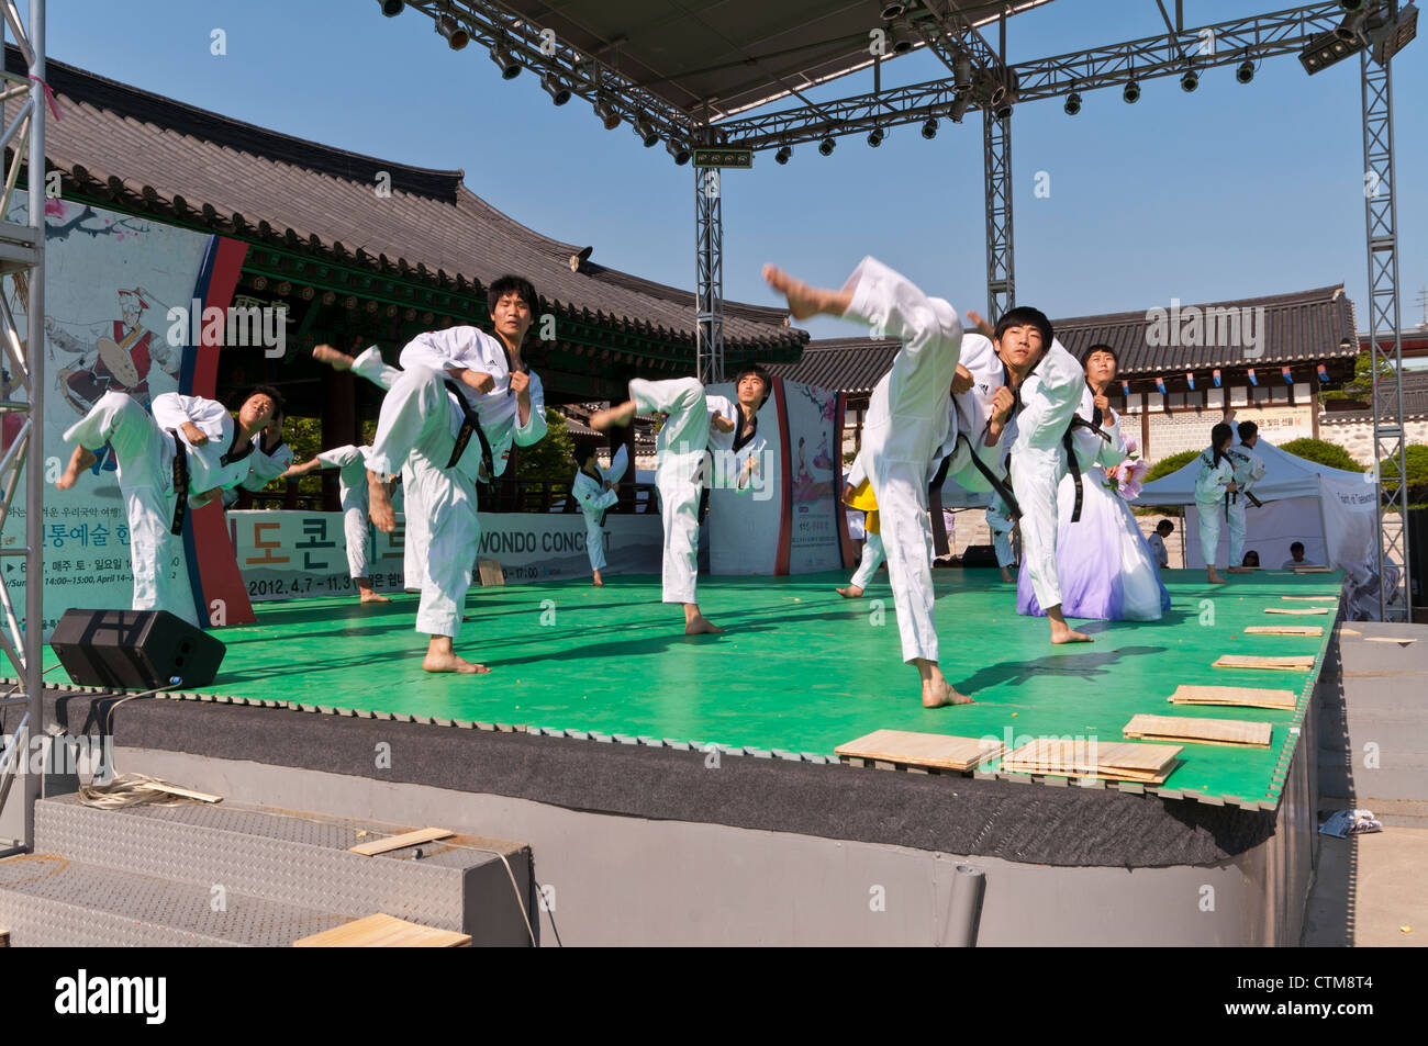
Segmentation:
<svg viewBox="0 0 1428 1046">
<path fill-rule="evenodd" d="M 697 604 L 700 491 L 704 487 L 710 448 L 717 450 L 720 458 L 715 462 L 718 474 L 714 482 L 748 491 L 753 487 L 751 477 L 743 469 L 751 459 L 757 465 L 767 440 L 758 434 L 757 417 L 753 435 L 745 438 L 738 404 L 727 397 L 705 395 L 698 378 L 634 378 L 630 381 L 630 398 L 643 414 L 665 415 L 654 445 L 658 459 L 654 485 L 660 495 L 660 524 L 664 528 L 661 601 Z M 715 431 L 710 424 L 714 414 L 733 418 L 734 431 Z"/>
</svg>

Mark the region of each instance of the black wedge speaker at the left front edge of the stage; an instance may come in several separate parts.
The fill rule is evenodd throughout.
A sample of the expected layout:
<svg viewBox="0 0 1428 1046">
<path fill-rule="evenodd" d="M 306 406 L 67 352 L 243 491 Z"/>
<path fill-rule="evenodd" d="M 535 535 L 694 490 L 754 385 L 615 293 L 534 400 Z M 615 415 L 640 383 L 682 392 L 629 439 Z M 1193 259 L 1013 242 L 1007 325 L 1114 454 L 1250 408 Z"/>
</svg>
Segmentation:
<svg viewBox="0 0 1428 1046">
<path fill-rule="evenodd" d="M 70 679 L 81 686 L 150 691 L 174 678 L 207 686 L 227 648 L 169 611 L 66 611 L 50 636 Z"/>
</svg>

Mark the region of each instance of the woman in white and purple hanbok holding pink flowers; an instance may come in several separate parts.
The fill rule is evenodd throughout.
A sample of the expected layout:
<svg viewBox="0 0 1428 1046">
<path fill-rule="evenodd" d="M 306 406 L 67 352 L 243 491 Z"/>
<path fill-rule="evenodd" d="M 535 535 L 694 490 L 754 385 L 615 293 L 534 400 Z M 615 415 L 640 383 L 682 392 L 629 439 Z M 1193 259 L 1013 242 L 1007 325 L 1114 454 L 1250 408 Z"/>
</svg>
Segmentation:
<svg viewBox="0 0 1428 1046">
<path fill-rule="evenodd" d="M 1081 518 L 1071 522 L 1075 487 L 1070 472 L 1057 488 L 1057 571 L 1061 577 L 1061 611 L 1068 618 L 1101 621 L 1160 621 L 1170 609 L 1170 592 L 1161 584 L 1155 558 L 1125 498 L 1140 492 L 1144 461 L 1138 447 L 1120 434 L 1105 390 L 1115 378 L 1115 351 L 1092 345 L 1085 357 L 1087 388 L 1077 415 L 1098 424 L 1110 437 L 1075 431 L 1070 468 L 1082 469 Z M 1012 468 L 1017 464 L 1012 462 Z M 1042 616 L 1022 564 L 1017 582 L 1017 612 Z"/>
</svg>

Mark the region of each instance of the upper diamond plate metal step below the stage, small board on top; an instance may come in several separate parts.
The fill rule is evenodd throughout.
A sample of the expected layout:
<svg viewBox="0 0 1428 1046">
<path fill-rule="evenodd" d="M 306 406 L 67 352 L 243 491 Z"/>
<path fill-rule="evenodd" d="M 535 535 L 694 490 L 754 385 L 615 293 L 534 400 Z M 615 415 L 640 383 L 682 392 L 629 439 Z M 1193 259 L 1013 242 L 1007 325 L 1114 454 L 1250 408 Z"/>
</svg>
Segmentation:
<svg viewBox="0 0 1428 1046">
<path fill-rule="evenodd" d="M 458 835 L 370 858 L 347 852 L 410 828 L 231 801 L 96 809 L 66 795 L 34 808 L 37 853 L 190 883 L 204 896 L 223 886 L 353 918 L 386 912 L 470 933 L 476 945 L 528 943 L 523 916 L 531 896 L 528 848 Z"/>
</svg>

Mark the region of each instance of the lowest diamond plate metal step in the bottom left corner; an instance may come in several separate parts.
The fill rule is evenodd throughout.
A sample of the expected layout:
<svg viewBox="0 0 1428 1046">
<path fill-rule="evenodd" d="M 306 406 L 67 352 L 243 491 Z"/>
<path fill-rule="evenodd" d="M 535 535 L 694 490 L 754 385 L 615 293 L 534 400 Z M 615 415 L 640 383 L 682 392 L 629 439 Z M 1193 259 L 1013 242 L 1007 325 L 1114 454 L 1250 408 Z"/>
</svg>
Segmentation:
<svg viewBox="0 0 1428 1046">
<path fill-rule="evenodd" d="M 221 910 L 214 910 L 220 908 Z M 346 915 L 36 853 L 0 860 L 14 948 L 280 948 Z"/>
</svg>

